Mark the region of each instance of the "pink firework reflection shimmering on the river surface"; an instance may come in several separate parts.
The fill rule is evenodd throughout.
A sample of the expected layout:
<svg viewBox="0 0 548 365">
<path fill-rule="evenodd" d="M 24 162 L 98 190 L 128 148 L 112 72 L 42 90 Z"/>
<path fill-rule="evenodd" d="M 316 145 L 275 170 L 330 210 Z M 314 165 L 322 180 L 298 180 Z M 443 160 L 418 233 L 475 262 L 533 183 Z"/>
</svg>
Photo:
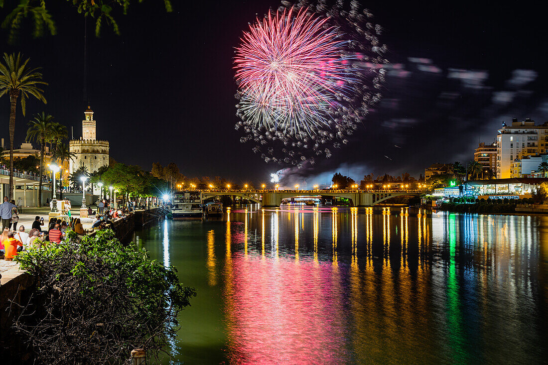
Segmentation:
<svg viewBox="0 0 548 365">
<path fill-rule="evenodd" d="M 290 257 L 232 256 L 226 319 L 231 363 L 345 363 L 339 269 Z"/>
</svg>

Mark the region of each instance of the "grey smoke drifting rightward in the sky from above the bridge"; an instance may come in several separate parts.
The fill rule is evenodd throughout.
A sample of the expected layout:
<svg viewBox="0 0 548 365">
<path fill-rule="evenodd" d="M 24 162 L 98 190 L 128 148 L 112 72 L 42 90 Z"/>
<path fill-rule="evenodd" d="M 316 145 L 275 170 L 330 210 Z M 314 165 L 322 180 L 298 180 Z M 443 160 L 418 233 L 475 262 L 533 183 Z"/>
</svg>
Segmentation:
<svg viewBox="0 0 548 365">
<path fill-rule="evenodd" d="M 281 185 L 330 183 L 335 172 L 416 178 L 435 162 L 473 159 L 478 142 L 493 142 L 503 121 L 543 123 L 548 96 L 534 70 L 514 70 L 496 83 L 486 70 L 442 67 L 427 58 L 390 65 L 383 99 L 349 144 L 316 166 L 280 170 Z"/>
</svg>

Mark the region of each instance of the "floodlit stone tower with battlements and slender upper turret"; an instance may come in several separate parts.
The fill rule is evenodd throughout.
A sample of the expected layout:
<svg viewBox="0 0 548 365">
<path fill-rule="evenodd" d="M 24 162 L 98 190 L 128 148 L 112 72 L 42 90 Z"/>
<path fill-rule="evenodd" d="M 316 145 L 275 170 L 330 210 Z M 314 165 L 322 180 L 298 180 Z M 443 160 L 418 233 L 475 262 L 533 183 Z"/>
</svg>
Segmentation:
<svg viewBox="0 0 548 365">
<path fill-rule="evenodd" d="M 69 142 L 70 151 L 76 157 L 70 161 L 70 173 L 84 166 L 88 172 L 93 173 L 101 166 L 109 164 L 109 142 L 96 139 L 95 119 L 93 110 L 84 112 L 82 121 L 82 138 Z"/>
</svg>

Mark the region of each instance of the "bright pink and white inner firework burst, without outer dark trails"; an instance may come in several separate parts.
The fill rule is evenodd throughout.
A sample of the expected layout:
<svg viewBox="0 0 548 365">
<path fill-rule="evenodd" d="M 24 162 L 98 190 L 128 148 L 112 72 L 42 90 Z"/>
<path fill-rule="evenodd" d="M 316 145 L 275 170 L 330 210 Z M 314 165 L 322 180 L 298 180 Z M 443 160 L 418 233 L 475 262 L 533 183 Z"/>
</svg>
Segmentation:
<svg viewBox="0 0 548 365">
<path fill-rule="evenodd" d="M 236 50 L 239 113 L 249 128 L 298 139 L 334 123 L 349 81 L 349 56 L 328 18 L 293 8 L 257 20 Z"/>
</svg>

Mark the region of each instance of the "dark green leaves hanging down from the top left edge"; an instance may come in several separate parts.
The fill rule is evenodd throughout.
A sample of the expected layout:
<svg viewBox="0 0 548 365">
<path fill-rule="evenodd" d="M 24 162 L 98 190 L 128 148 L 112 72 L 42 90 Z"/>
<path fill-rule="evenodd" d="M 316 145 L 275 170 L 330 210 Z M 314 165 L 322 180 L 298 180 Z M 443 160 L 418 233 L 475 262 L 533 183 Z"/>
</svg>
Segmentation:
<svg viewBox="0 0 548 365">
<path fill-rule="evenodd" d="M 121 10 L 125 15 L 129 5 L 136 1 L 142 0 L 66 0 L 71 2 L 76 8 L 78 14 L 83 14 L 84 17 L 90 16 L 95 19 L 95 36 L 99 37 L 103 23 L 112 26 L 112 30 L 120 35 L 118 23 L 116 22 L 113 10 Z M 4 1 L 0 0 L 0 7 L 4 6 Z M 164 0 L 165 10 L 169 13 L 173 11 L 170 0 Z M 65 15 L 65 14 L 64 14 Z M 31 18 L 34 22 L 33 37 L 42 37 L 48 32 L 50 35 L 57 33 L 57 27 L 53 20 L 52 14 L 49 13 L 49 8 L 44 0 L 19 0 L 19 5 L 16 6 L 2 22 L 2 27 L 9 28 L 9 43 L 14 43 L 17 39 L 22 20 Z"/>
</svg>

